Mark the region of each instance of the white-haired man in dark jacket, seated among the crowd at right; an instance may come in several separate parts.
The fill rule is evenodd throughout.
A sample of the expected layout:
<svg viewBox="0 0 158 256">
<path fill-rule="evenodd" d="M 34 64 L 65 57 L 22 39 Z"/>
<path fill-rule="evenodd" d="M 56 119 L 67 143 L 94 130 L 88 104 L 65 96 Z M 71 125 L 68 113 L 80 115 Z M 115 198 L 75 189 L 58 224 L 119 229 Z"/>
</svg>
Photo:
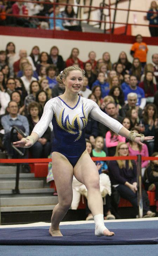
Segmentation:
<svg viewBox="0 0 158 256">
<path fill-rule="evenodd" d="M 128 103 L 119 110 L 120 116 L 121 117 L 125 117 L 126 116 L 126 112 L 128 110 L 130 110 L 131 108 L 135 108 L 135 109 L 138 110 L 139 118 L 142 118 L 142 111 L 143 110 L 139 106 L 136 106 L 136 103 L 137 103 L 137 93 L 130 92 L 129 94 L 127 94 L 127 101 L 128 101 Z"/>
</svg>

